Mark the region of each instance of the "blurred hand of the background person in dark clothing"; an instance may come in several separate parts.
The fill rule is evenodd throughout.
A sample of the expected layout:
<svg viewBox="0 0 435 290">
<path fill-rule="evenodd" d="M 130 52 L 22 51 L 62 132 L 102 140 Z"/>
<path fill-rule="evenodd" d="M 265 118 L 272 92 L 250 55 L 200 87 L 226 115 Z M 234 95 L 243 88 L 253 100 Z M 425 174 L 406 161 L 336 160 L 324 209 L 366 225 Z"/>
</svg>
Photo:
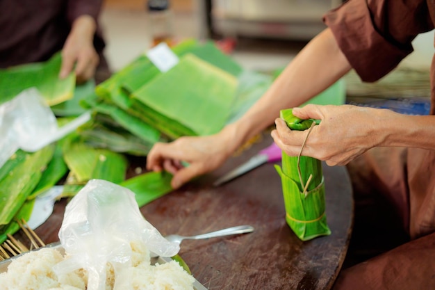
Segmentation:
<svg viewBox="0 0 435 290">
<path fill-rule="evenodd" d="M 99 56 L 93 45 L 95 21 L 84 15 L 76 19 L 62 49 L 59 77 L 64 79 L 72 70 L 77 83 L 84 83 L 95 75 Z M 74 68 L 75 65 L 75 68 Z"/>
</svg>

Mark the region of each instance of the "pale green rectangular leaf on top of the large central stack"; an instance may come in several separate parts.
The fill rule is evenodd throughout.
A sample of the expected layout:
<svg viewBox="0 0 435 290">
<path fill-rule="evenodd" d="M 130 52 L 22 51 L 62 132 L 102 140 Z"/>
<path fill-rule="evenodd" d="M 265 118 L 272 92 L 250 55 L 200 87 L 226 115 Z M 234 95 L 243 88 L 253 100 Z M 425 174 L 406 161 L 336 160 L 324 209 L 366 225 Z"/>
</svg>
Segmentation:
<svg viewBox="0 0 435 290">
<path fill-rule="evenodd" d="M 155 122 L 204 136 L 220 131 L 227 122 L 236 87 L 233 75 L 186 54 L 171 70 L 133 92 L 133 97 Z"/>
</svg>

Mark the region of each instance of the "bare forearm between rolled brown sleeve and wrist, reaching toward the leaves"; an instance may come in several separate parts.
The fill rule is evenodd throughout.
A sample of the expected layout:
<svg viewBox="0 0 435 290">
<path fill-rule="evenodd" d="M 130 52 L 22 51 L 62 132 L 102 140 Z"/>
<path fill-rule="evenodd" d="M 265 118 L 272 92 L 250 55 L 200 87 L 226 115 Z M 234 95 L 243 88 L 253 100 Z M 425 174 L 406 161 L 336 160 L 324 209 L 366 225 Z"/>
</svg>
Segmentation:
<svg viewBox="0 0 435 290">
<path fill-rule="evenodd" d="M 334 35 L 326 29 L 286 67 L 265 95 L 240 120 L 224 129 L 236 147 L 273 123 L 283 108 L 303 104 L 350 70 Z"/>
</svg>

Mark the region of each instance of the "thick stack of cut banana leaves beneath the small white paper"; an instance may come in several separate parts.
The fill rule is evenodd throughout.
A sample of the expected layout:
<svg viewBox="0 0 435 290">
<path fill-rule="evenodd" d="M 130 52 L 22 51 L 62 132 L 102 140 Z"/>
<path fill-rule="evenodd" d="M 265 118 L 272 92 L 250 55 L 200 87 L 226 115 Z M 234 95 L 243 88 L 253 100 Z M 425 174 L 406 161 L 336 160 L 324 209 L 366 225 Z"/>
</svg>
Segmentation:
<svg viewBox="0 0 435 290">
<path fill-rule="evenodd" d="M 185 40 L 171 49 L 181 59 L 179 65 L 172 68 L 173 72 L 160 72 L 142 54 L 100 83 L 95 88 L 97 98 L 86 99 L 82 105 L 94 111 L 95 116 L 108 115 L 125 131 L 151 146 L 157 141 L 209 134 L 217 127 L 223 127 L 227 111 L 231 111 L 233 104 L 236 76 L 243 71 L 242 68 L 210 41 Z M 199 95 L 202 99 L 198 101 Z M 231 99 L 227 97 L 229 95 Z M 199 106 L 199 103 L 203 105 Z M 204 119 L 210 114 L 215 117 Z M 209 122 L 203 120 L 213 122 L 209 126 Z M 102 125 L 108 127 L 107 123 Z M 126 137 L 124 130 L 115 133 Z M 101 130 L 94 133 L 87 130 L 86 134 L 87 142 L 95 145 L 99 143 L 97 138 L 103 137 Z"/>
</svg>

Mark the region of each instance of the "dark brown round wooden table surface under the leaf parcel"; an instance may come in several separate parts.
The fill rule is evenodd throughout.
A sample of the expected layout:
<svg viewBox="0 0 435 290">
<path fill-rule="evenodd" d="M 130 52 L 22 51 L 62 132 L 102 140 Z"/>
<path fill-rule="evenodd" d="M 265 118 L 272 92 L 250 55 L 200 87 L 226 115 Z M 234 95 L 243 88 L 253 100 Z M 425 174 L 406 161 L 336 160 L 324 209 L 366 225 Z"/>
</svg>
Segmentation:
<svg viewBox="0 0 435 290">
<path fill-rule="evenodd" d="M 199 177 L 140 209 L 161 234 L 202 234 L 235 225 L 254 232 L 207 240 L 185 240 L 179 255 L 192 274 L 214 289 L 331 289 L 352 232 L 353 200 L 347 171 L 323 164 L 327 222 L 331 235 L 300 241 L 286 224 L 281 180 L 272 164 L 219 187 L 213 181 L 247 161 L 272 139 L 265 135 L 219 170 Z M 35 232 L 58 241 L 65 200 Z"/>
</svg>

